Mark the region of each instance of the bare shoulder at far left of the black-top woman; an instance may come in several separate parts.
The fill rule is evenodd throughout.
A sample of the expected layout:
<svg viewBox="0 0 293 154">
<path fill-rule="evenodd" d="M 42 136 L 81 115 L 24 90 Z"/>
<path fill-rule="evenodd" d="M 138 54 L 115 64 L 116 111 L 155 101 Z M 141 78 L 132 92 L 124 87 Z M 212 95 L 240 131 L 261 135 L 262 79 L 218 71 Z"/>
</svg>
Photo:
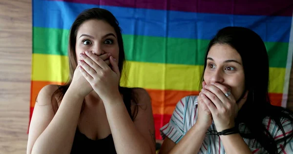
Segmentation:
<svg viewBox="0 0 293 154">
<path fill-rule="evenodd" d="M 59 85 L 55 85 L 55 84 L 49 84 L 44 86 L 37 98 L 36 98 L 36 105 L 38 106 L 43 106 L 43 105 L 50 105 L 51 104 L 51 99 L 53 94 L 59 89 Z M 55 101 L 55 100 L 53 100 Z"/>
</svg>

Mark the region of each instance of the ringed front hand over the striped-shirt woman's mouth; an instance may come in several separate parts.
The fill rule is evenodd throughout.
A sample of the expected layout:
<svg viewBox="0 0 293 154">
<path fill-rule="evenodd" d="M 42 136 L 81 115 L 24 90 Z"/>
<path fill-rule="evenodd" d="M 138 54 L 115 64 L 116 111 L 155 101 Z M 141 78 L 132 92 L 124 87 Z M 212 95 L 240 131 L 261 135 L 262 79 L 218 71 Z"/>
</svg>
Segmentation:
<svg viewBox="0 0 293 154">
<path fill-rule="evenodd" d="M 201 94 L 203 95 L 202 99 L 211 112 L 217 132 L 235 126 L 235 116 L 245 103 L 248 95 L 248 92 L 246 92 L 245 96 L 236 103 L 236 100 L 231 93 L 229 96 L 225 95 L 228 93 L 230 93 L 230 90 L 220 83 L 206 85 L 201 91 Z"/>
</svg>

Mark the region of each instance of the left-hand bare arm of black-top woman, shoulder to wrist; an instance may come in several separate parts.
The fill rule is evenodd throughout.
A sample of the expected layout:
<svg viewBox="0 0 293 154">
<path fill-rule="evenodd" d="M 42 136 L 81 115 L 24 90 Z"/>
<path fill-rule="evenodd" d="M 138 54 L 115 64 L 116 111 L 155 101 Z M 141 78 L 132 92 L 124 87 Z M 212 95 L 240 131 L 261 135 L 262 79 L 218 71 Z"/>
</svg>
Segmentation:
<svg viewBox="0 0 293 154">
<path fill-rule="evenodd" d="M 83 97 L 69 88 L 54 116 L 51 96 L 57 86 L 42 88 L 29 128 L 27 154 L 69 154 L 80 115 Z"/>
</svg>

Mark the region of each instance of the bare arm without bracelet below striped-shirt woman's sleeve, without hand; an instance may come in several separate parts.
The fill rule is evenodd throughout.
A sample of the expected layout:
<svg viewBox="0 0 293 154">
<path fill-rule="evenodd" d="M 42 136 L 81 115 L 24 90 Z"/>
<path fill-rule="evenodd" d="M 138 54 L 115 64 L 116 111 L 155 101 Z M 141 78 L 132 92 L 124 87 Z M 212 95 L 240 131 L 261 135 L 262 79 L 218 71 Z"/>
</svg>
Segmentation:
<svg viewBox="0 0 293 154">
<path fill-rule="evenodd" d="M 166 138 L 159 154 L 196 154 L 202 146 L 207 130 L 208 128 L 195 123 L 178 144 Z"/>
</svg>

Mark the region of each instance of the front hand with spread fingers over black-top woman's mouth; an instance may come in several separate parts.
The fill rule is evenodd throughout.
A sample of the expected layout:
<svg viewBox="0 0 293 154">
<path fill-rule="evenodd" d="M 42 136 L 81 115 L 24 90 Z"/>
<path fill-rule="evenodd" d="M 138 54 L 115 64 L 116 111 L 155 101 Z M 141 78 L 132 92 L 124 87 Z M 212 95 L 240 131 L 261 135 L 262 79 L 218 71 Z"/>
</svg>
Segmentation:
<svg viewBox="0 0 293 154">
<path fill-rule="evenodd" d="M 115 58 L 112 56 L 109 58 L 111 69 L 102 58 L 91 52 L 86 51 L 80 57 L 82 58 L 79 60 L 80 71 L 103 101 L 112 98 L 113 95 L 120 96 L 118 90 L 120 72 Z"/>
</svg>

